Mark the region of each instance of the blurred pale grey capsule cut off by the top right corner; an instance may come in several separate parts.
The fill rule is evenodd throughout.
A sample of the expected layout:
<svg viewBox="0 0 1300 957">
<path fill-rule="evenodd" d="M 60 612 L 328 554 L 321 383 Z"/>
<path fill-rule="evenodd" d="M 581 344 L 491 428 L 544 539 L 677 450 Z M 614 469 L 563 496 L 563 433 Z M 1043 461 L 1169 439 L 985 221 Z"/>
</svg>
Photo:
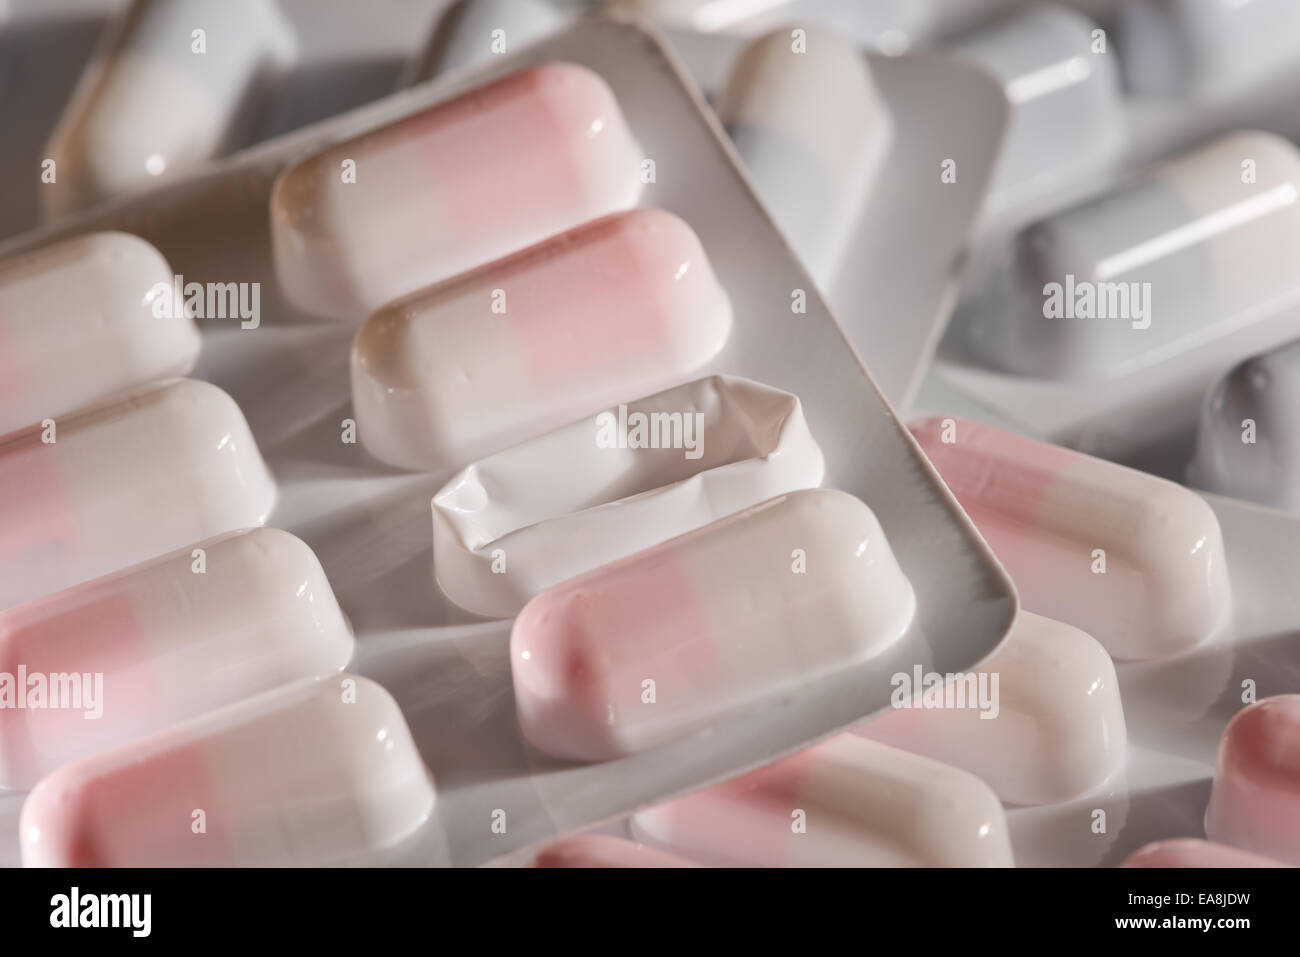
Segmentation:
<svg viewBox="0 0 1300 957">
<path fill-rule="evenodd" d="M 1124 86 L 1148 96 L 1204 95 L 1296 64 L 1295 0 L 1124 0 L 1115 5 Z"/>
</svg>

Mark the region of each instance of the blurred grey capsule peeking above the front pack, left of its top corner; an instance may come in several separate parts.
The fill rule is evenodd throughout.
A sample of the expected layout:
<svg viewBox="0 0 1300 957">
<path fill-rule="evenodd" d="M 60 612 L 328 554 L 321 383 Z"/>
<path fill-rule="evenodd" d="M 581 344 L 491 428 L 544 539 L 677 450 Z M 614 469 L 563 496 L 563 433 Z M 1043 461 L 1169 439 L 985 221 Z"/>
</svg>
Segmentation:
<svg viewBox="0 0 1300 957">
<path fill-rule="evenodd" d="M 568 18 L 550 0 L 456 0 L 438 20 L 407 83 L 481 66 L 558 30 Z"/>
</svg>

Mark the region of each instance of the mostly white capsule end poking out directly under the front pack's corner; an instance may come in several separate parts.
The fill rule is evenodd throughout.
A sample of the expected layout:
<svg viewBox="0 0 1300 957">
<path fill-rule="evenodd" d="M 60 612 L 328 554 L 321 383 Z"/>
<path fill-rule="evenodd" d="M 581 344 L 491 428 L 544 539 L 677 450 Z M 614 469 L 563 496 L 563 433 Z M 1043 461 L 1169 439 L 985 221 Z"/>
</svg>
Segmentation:
<svg viewBox="0 0 1300 957">
<path fill-rule="evenodd" d="M 1079 797 L 1124 765 L 1115 666 L 1078 628 L 1022 611 L 979 671 L 931 684 L 916 672 L 858 733 L 965 768 L 1018 805 Z"/>
</svg>

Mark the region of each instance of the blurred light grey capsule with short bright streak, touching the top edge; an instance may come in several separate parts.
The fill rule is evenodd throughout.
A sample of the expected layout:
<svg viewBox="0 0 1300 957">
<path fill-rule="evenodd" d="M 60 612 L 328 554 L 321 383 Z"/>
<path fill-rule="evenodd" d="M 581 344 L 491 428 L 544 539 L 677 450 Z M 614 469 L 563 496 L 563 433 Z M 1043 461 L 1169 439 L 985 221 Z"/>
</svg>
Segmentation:
<svg viewBox="0 0 1300 957">
<path fill-rule="evenodd" d="M 963 39 L 957 51 L 1002 83 L 1011 107 L 994 194 L 1100 164 L 1122 146 L 1114 53 L 1075 10 L 1024 10 Z"/>
</svg>

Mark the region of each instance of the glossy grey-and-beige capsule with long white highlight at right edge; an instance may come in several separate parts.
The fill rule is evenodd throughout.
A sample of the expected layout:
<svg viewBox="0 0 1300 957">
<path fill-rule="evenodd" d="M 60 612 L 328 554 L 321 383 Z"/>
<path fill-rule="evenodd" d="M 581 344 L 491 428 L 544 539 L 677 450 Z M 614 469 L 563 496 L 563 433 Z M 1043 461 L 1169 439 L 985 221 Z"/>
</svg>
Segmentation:
<svg viewBox="0 0 1300 957">
<path fill-rule="evenodd" d="M 967 347 L 1013 373 L 1104 378 L 1294 307 L 1297 190 L 1295 146 L 1235 133 L 1028 226 L 972 307 Z"/>
</svg>

